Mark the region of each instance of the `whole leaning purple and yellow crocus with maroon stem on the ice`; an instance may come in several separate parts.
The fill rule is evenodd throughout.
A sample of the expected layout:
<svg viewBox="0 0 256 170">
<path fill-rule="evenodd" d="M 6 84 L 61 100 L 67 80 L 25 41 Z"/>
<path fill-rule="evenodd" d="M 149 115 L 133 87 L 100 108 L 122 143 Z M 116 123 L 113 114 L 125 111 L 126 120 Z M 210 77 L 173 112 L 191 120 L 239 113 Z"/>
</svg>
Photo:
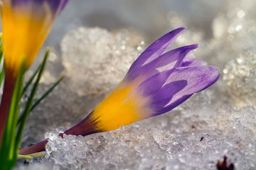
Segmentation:
<svg viewBox="0 0 256 170">
<path fill-rule="evenodd" d="M 215 83 L 220 76 L 219 69 L 206 66 L 204 61 L 189 54 L 197 45 L 168 51 L 183 30 L 175 29 L 148 46 L 118 87 L 64 134 L 86 136 L 161 115 Z M 46 143 L 47 140 L 20 150 L 20 154 L 42 151 Z"/>
</svg>

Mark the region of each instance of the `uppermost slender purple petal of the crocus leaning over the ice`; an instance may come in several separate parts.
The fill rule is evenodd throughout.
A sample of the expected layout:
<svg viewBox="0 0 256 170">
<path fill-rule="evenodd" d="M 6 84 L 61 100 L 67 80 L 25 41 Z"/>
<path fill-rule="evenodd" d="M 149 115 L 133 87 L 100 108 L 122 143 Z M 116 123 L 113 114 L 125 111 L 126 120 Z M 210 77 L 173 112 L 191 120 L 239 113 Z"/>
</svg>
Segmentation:
<svg viewBox="0 0 256 170">
<path fill-rule="evenodd" d="M 138 74 L 140 74 L 140 67 L 154 59 L 157 59 L 157 57 L 165 53 L 184 29 L 184 27 L 175 29 L 157 39 L 157 41 L 152 43 L 152 45 L 148 46 L 148 48 L 141 53 L 138 59 L 133 62 L 127 74 L 129 74 L 131 71 L 138 72 Z"/>
</svg>

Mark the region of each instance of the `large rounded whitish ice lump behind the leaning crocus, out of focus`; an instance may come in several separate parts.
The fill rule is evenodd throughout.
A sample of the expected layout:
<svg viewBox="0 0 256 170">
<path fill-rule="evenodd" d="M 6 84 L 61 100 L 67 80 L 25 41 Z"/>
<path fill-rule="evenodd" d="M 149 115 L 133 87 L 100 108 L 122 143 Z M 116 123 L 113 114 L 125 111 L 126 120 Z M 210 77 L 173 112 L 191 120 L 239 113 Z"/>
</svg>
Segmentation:
<svg viewBox="0 0 256 170">
<path fill-rule="evenodd" d="M 106 29 L 84 27 L 63 38 L 63 66 L 79 96 L 113 90 L 143 50 L 143 41 L 129 42 L 127 31 L 111 34 Z"/>
</svg>

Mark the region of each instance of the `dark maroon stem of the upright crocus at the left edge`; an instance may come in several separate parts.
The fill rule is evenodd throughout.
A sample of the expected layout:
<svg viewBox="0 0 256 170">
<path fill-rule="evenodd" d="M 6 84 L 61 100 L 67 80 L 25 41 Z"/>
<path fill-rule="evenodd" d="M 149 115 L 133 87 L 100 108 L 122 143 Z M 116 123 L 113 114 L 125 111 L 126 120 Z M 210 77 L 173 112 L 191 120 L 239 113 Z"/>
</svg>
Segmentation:
<svg viewBox="0 0 256 170">
<path fill-rule="evenodd" d="M 8 119 L 10 104 L 12 102 L 13 90 L 16 78 L 12 73 L 6 71 L 4 78 L 4 90 L 0 105 L 0 148 L 3 140 L 4 129 Z"/>
</svg>

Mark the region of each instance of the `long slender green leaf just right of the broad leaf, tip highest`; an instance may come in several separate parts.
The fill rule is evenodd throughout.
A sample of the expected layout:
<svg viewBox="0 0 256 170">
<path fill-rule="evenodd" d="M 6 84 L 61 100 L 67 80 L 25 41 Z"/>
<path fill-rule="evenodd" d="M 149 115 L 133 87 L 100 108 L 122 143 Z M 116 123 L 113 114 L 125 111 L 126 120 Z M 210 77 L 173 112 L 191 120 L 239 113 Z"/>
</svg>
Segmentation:
<svg viewBox="0 0 256 170">
<path fill-rule="evenodd" d="M 18 131 L 17 131 L 16 143 L 20 144 L 20 140 L 21 140 L 21 137 L 22 137 L 22 132 L 23 132 L 23 129 L 24 129 L 24 125 L 25 125 L 26 119 L 28 118 L 29 111 L 31 110 L 31 106 L 33 104 L 33 99 L 34 99 L 35 94 L 36 94 L 36 89 L 39 85 L 40 79 L 41 79 L 42 74 L 44 72 L 45 64 L 46 64 L 48 56 L 49 56 L 49 48 L 47 48 L 47 50 L 45 52 L 45 56 L 44 56 L 44 60 L 42 62 L 42 66 L 40 67 L 40 70 L 38 72 L 38 76 L 36 78 L 33 89 L 31 90 L 31 94 L 30 94 L 28 102 L 26 104 L 26 108 L 25 108 L 24 112 L 22 113 L 22 116 L 20 117 L 21 119 L 20 119 L 20 124 L 19 124 Z M 19 152 L 19 145 L 16 145 L 16 146 L 17 147 L 15 148 L 15 153 L 17 154 Z"/>
</svg>

